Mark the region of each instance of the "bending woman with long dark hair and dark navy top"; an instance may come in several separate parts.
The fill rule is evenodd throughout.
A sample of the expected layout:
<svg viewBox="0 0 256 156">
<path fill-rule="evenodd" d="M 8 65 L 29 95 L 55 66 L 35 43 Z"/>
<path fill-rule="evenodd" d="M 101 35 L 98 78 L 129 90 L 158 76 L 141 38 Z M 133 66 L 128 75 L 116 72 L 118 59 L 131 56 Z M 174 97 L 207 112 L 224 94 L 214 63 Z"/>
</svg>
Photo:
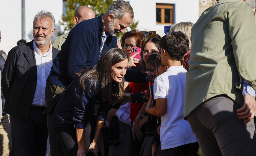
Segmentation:
<svg viewBox="0 0 256 156">
<path fill-rule="evenodd" d="M 94 114 L 94 104 L 112 105 L 122 97 L 128 56 L 119 48 L 109 49 L 91 69 L 78 78 L 56 104 L 52 126 L 66 156 L 85 156 L 84 130 Z"/>
</svg>

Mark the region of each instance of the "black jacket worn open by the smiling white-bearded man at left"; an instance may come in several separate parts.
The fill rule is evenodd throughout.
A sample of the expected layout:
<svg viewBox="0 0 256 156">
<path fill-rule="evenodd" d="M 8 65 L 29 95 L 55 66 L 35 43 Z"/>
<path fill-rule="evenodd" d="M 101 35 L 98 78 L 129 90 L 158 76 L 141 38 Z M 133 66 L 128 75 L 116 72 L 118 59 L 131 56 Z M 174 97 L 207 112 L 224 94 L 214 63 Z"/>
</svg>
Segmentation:
<svg viewBox="0 0 256 156">
<path fill-rule="evenodd" d="M 59 50 L 52 47 L 53 59 L 58 52 Z M 1 85 L 6 100 L 4 112 L 26 120 L 37 86 L 33 40 L 10 50 L 4 65 Z"/>
</svg>

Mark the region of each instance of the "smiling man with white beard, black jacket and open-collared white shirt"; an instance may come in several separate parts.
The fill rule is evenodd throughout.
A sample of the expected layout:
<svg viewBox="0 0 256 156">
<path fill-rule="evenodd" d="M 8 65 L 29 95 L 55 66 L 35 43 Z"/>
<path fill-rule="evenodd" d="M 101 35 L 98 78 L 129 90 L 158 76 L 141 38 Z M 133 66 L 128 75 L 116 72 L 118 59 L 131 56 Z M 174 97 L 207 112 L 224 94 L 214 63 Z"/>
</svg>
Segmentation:
<svg viewBox="0 0 256 156">
<path fill-rule="evenodd" d="M 45 110 L 46 77 L 59 50 L 50 38 L 55 20 L 48 11 L 34 17 L 34 40 L 15 46 L 8 53 L 3 69 L 4 112 L 10 115 L 11 135 L 16 156 L 45 156 L 47 120 Z"/>
</svg>

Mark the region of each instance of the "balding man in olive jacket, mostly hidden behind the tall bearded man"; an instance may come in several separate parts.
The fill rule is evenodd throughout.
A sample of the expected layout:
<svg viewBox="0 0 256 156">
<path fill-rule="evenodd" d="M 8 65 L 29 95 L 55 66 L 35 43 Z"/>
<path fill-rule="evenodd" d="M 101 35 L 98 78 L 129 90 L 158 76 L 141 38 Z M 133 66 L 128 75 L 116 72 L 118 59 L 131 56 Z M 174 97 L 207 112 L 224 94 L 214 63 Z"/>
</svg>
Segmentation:
<svg viewBox="0 0 256 156">
<path fill-rule="evenodd" d="M 95 18 L 95 14 L 94 14 L 93 10 L 91 8 L 89 8 L 88 6 L 79 6 L 75 10 L 75 17 L 74 17 L 75 26 L 84 20 L 89 20 L 92 18 Z M 61 46 L 66 41 L 68 33 L 54 38 L 51 41 L 52 46 L 58 50 L 61 50 Z"/>
</svg>

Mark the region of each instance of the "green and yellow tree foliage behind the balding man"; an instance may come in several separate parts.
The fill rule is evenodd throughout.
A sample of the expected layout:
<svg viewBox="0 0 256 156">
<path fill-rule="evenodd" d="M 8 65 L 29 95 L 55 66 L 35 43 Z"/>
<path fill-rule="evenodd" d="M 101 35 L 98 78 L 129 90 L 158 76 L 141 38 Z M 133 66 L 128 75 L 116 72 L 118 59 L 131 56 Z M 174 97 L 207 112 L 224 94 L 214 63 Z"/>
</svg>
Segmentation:
<svg viewBox="0 0 256 156">
<path fill-rule="evenodd" d="M 104 14 L 108 7 L 113 3 L 113 0 L 67 0 L 66 6 L 66 15 L 62 15 L 62 20 L 64 21 L 62 25 L 64 26 L 65 31 L 70 31 L 74 27 L 74 14 L 75 10 L 80 5 L 86 5 L 90 7 L 97 17 L 100 14 Z M 130 24 L 129 30 L 125 30 L 125 32 L 136 29 L 138 25 L 137 22 L 132 22 Z M 58 36 L 62 35 L 64 32 L 57 32 Z M 123 33 L 119 33 L 117 37 L 120 39 L 123 36 Z"/>
</svg>

